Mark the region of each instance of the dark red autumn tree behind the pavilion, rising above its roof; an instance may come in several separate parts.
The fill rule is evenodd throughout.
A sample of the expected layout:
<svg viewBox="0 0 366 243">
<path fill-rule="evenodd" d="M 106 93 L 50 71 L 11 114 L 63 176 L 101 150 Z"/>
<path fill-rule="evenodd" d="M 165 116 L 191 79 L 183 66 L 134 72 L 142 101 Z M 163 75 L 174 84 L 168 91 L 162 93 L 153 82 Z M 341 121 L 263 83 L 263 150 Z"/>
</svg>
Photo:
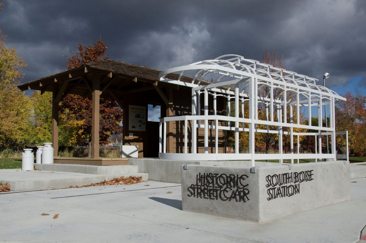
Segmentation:
<svg viewBox="0 0 366 243">
<path fill-rule="evenodd" d="M 67 70 L 80 67 L 85 63 L 91 61 L 107 60 L 109 56 L 106 55 L 108 47 L 104 41 L 98 38 L 97 42 L 88 47 L 83 46 L 81 42 L 77 46 L 78 52 L 73 55 L 70 50 L 70 58 L 67 61 Z M 72 128 L 69 134 L 70 145 L 81 144 L 82 140 L 91 139 L 91 98 L 78 95 L 67 95 L 60 102 L 60 118 L 69 124 Z M 122 127 L 119 126 L 122 120 L 122 109 L 114 100 L 100 99 L 100 130 L 99 137 L 101 140 L 107 140 L 109 135 L 113 133 L 121 133 Z M 73 122 L 71 124 L 71 122 Z"/>
</svg>

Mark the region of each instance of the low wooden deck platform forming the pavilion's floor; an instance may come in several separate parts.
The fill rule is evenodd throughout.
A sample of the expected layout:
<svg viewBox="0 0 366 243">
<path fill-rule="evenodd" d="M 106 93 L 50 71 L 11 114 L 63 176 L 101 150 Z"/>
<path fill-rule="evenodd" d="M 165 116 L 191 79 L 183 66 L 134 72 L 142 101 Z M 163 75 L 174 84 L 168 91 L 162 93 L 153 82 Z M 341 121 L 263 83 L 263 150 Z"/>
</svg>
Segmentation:
<svg viewBox="0 0 366 243">
<path fill-rule="evenodd" d="M 55 164 L 77 164 L 77 165 L 127 165 L 128 158 L 74 158 L 74 157 L 53 157 Z"/>
</svg>

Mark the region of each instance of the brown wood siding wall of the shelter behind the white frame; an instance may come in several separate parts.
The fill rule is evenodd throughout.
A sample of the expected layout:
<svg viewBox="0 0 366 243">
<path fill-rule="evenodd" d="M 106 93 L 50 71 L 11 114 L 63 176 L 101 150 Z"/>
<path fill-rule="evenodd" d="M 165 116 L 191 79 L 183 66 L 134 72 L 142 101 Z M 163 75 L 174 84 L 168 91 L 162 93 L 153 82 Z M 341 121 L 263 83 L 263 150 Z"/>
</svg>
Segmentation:
<svg viewBox="0 0 366 243">
<path fill-rule="evenodd" d="M 185 87 L 179 87 L 179 90 L 171 88 L 170 91 L 163 88 L 163 92 L 169 98 L 169 101 L 172 102 L 172 115 L 173 116 L 184 116 L 191 115 L 191 89 Z M 167 110 L 166 105 L 163 100 L 159 96 L 159 94 L 155 90 L 143 91 L 138 93 L 129 94 L 124 97 L 124 108 L 126 111 L 123 113 L 123 145 L 134 145 L 139 148 L 139 157 L 152 157 L 152 154 L 157 154 L 157 152 L 153 150 L 158 150 L 158 146 L 151 146 L 152 143 L 157 143 L 158 145 L 158 137 L 156 141 L 152 141 L 152 134 L 156 133 L 156 131 L 149 131 L 148 127 L 151 129 L 159 129 L 158 126 L 148 126 L 146 124 L 146 131 L 129 131 L 128 127 L 128 109 L 129 105 L 140 105 L 146 107 L 146 122 L 147 122 L 147 105 L 151 102 L 155 104 L 161 105 L 161 117 L 165 116 L 165 112 Z M 201 104 L 203 104 L 203 96 L 201 96 Z M 218 115 L 225 115 L 226 109 L 226 100 L 223 97 L 217 97 L 217 109 Z M 201 114 L 204 113 L 202 109 Z M 209 95 L 209 115 L 213 115 L 213 97 Z M 201 121 L 203 124 L 203 121 Z M 214 121 L 209 121 L 210 125 L 214 124 Z M 221 126 L 225 124 L 225 122 L 219 122 Z M 169 122 L 167 128 L 171 126 L 171 132 L 168 132 L 167 136 L 167 153 L 184 153 L 184 121 L 177 122 Z M 187 152 L 191 153 L 191 122 L 188 122 L 188 149 Z M 129 137 L 129 133 L 133 133 L 133 137 Z M 226 132 L 223 130 L 219 130 L 219 152 L 218 153 L 226 153 Z M 215 153 L 215 130 L 208 130 L 208 139 L 209 139 L 209 153 Z M 197 150 L 198 153 L 204 153 L 204 129 L 198 128 L 197 133 Z"/>
</svg>

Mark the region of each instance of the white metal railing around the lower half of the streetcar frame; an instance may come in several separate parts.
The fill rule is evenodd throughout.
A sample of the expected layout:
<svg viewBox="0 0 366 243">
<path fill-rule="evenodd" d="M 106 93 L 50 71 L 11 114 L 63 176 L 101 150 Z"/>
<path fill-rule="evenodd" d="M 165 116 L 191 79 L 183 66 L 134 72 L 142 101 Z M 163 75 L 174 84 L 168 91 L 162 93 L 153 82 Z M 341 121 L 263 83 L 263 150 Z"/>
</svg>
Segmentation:
<svg viewBox="0 0 366 243">
<path fill-rule="evenodd" d="M 200 121 L 204 121 L 201 124 Z M 184 121 L 184 153 L 167 153 L 167 123 L 168 122 L 177 122 L 177 121 Z M 209 125 L 208 121 L 213 121 L 213 125 Z M 320 127 L 315 126 L 308 126 L 302 124 L 294 124 L 294 123 L 278 123 L 278 122 L 268 122 L 265 120 L 253 120 L 254 124 L 262 124 L 262 125 L 269 125 L 269 126 L 277 126 L 279 130 L 261 130 L 255 128 L 255 132 L 269 132 L 269 133 L 276 133 L 276 134 L 283 134 L 283 135 L 290 135 L 291 141 L 293 141 L 293 137 L 302 135 L 307 136 L 315 136 L 315 153 L 303 154 L 299 153 L 299 139 L 298 141 L 298 150 L 297 153 L 294 151 L 293 142 L 291 143 L 291 153 L 284 154 L 282 150 L 279 150 L 279 154 L 256 154 L 256 153 L 239 153 L 238 149 L 235 150 L 235 154 L 227 154 L 227 153 L 219 153 L 218 145 L 218 133 L 219 130 L 227 130 L 227 131 L 235 131 L 235 136 L 239 136 L 240 131 L 249 132 L 249 128 L 242 127 L 231 127 L 231 126 L 219 126 L 219 121 L 224 121 L 229 124 L 230 122 L 239 122 L 241 124 L 247 123 L 251 124 L 251 119 L 246 118 L 238 118 L 238 117 L 230 117 L 230 116 L 220 116 L 220 115 L 194 115 L 194 116 L 172 116 L 172 117 L 164 117 L 160 119 L 159 125 L 159 151 L 160 151 L 160 158 L 162 159 L 171 159 L 171 160 L 268 160 L 268 159 L 275 159 L 282 162 L 283 160 L 291 160 L 291 163 L 294 163 L 294 160 L 299 162 L 299 159 L 314 159 L 318 161 L 320 159 L 336 159 L 335 151 L 332 150 L 332 153 L 321 153 L 321 137 L 322 135 L 332 135 L 335 133 L 334 128 L 328 127 L 321 127 L 323 132 L 294 132 L 292 131 L 283 131 L 283 127 L 290 127 L 290 128 L 304 128 L 309 130 L 319 130 Z M 188 122 L 191 122 L 191 153 L 188 153 Z M 197 152 L 197 128 L 203 128 L 204 130 L 204 152 L 198 153 Z M 208 153 L 208 129 L 215 131 L 215 152 Z M 325 132 L 324 132 L 325 131 Z M 335 134 L 346 134 L 346 132 L 337 132 Z M 319 136 L 320 135 L 320 136 Z M 238 139 L 235 139 L 238 141 Z M 318 143 L 318 144 L 317 144 Z M 347 142 L 348 147 L 348 142 Z M 213 149 L 213 147 L 212 147 Z M 169 151 L 171 152 L 171 151 Z M 340 158 L 340 157 L 337 157 Z M 348 157 L 347 157 L 348 160 Z M 254 162 L 253 162 L 254 164 Z"/>
</svg>

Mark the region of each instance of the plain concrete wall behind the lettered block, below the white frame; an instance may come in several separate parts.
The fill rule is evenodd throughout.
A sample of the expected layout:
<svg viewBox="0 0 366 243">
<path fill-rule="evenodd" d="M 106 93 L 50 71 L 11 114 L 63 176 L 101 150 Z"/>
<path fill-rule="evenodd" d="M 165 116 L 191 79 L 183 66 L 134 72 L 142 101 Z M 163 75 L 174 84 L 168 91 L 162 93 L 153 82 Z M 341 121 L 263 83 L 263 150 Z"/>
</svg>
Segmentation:
<svg viewBox="0 0 366 243">
<path fill-rule="evenodd" d="M 137 165 L 138 172 L 148 173 L 149 179 L 157 182 L 181 183 L 180 167 L 184 164 L 195 165 L 224 165 L 234 167 L 251 167 L 251 161 L 187 161 L 187 160 L 161 160 L 154 158 L 128 158 L 129 165 Z M 276 163 L 255 162 L 255 166 L 275 166 Z"/>
</svg>

